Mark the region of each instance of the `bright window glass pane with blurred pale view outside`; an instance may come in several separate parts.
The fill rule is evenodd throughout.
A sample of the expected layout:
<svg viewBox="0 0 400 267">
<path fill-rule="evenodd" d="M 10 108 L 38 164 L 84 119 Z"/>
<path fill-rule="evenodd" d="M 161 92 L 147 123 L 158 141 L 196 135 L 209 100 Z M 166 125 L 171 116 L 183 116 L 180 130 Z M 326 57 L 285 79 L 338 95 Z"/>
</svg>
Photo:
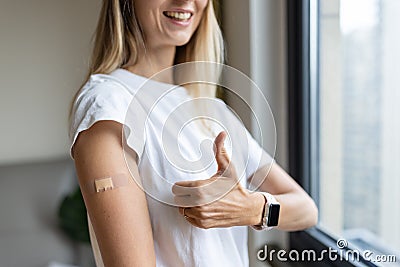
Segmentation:
<svg viewBox="0 0 400 267">
<path fill-rule="evenodd" d="M 319 3 L 320 224 L 399 253 L 400 1 Z"/>
</svg>

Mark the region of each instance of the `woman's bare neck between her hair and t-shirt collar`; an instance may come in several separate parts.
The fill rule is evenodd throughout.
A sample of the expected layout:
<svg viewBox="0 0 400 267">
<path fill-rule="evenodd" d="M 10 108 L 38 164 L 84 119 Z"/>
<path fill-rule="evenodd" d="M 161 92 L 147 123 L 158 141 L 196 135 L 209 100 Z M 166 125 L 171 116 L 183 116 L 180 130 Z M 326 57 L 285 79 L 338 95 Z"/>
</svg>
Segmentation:
<svg viewBox="0 0 400 267">
<path fill-rule="evenodd" d="M 155 79 L 160 82 L 173 83 L 172 71 L 163 71 L 174 64 L 175 46 L 157 47 L 141 51 L 141 55 L 135 65 L 129 65 L 126 69 L 137 75 L 150 78 L 157 74 Z"/>
</svg>

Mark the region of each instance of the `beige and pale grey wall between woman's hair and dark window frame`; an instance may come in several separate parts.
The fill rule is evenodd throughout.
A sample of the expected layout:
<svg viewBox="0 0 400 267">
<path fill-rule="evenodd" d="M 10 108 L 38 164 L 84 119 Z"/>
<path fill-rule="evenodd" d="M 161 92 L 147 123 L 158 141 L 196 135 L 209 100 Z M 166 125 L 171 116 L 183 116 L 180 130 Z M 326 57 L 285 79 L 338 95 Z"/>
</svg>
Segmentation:
<svg viewBox="0 0 400 267">
<path fill-rule="evenodd" d="M 228 64 L 250 76 L 266 96 L 276 122 L 276 160 L 287 167 L 286 1 L 225 0 L 222 13 Z M 246 88 L 240 94 L 252 99 L 253 110 L 263 105 L 249 96 L 251 93 Z M 246 126 L 253 128 L 254 123 L 247 120 L 250 119 L 246 114 L 248 110 L 236 109 L 240 106 L 236 101 L 228 99 L 228 102 Z M 261 122 L 261 127 L 263 133 L 270 132 L 270 124 Z M 271 136 L 263 136 L 267 147 L 271 147 L 271 142 Z M 250 231 L 250 266 L 266 266 L 265 262 L 256 259 L 256 252 L 263 245 L 272 243 L 287 247 L 287 235 L 279 231 Z"/>
</svg>

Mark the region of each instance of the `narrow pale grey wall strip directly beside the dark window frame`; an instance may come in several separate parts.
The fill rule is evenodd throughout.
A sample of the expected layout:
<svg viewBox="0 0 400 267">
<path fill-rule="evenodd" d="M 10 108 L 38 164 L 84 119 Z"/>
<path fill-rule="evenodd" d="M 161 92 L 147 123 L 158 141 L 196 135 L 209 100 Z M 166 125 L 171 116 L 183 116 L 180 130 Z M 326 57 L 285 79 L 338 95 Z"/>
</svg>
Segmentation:
<svg viewBox="0 0 400 267">
<path fill-rule="evenodd" d="M 266 148 L 276 145 L 275 160 L 284 169 L 288 167 L 288 106 L 287 106 L 287 25 L 285 0 L 250 0 L 250 76 L 260 87 L 271 107 L 274 122 L 260 121 L 263 133 L 276 127 L 276 139 L 263 135 Z M 254 109 L 262 110 L 262 103 L 253 95 Z M 253 123 L 253 130 L 256 126 Z M 272 152 L 270 152 L 272 153 Z M 250 264 L 265 266 L 255 257 L 265 244 L 288 247 L 288 235 L 281 231 L 250 232 Z"/>
</svg>

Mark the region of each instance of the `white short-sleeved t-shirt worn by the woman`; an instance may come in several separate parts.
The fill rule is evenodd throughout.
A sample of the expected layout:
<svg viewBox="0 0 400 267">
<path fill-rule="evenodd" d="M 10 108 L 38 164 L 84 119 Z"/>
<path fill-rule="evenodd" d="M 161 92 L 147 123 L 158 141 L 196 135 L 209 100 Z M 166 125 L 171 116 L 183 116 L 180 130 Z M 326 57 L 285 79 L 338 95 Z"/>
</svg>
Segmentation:
<svg viewBox="0 0 400 267">
<path fill-rule="evenodd" d="M 204 105 L 207 111 L 200 111 Z M 92 75 L 80 91 L 73 105 L 71 147 L 80 132 L 102 120 L 123 124 L 126 143 L 138 155 L 157 266 L 248 266 L 247 227 L 200 229 L 171 205 L 175 182 L 215 174 L 212 142 L 221 130 L 229 135 L 225 146 L 243 186 L 258 167 L 272 163 L 229 107 L 117 69 Z"/>
</svg>

